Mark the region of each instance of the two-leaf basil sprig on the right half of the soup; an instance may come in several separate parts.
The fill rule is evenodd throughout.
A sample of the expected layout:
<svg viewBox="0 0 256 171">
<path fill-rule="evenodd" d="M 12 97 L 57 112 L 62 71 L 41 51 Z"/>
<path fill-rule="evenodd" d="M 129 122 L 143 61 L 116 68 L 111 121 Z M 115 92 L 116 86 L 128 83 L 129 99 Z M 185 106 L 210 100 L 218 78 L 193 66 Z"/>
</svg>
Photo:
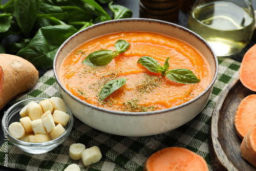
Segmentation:
<svg viewBox="0 0 256 171">
<path fill-rule="evenodd" d="M 200 82 L 200 79 L 198 79 L 197 76 L 188 69 L 173 69 L 168 71 L 168 59 L 169 57 L 165 60 L 163 67 L 160 66 L 156 59 L 150 56 L 142 56 L 139 58 L 137 63 L 141 63 L 143 67 L 151 72 L 161 73 L 162 76 L 166 75 L 170 80 L 178 83 L 190 84 Z"/>
</svg>

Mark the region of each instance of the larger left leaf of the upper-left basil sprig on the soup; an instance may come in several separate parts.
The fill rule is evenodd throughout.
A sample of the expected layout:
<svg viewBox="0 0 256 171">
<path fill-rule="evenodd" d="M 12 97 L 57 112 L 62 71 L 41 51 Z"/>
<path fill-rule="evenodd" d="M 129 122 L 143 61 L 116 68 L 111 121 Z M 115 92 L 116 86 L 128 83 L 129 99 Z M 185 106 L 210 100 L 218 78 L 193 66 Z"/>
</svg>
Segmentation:
<svg viewBox="0 0 256 171">
<path fill-rule="evenodd" d="M 90 61 L 95 66 L 105 66 L 108 65 L 117 55 L 111 50 L 99 50 L 89 55 Z"/>
</svg>

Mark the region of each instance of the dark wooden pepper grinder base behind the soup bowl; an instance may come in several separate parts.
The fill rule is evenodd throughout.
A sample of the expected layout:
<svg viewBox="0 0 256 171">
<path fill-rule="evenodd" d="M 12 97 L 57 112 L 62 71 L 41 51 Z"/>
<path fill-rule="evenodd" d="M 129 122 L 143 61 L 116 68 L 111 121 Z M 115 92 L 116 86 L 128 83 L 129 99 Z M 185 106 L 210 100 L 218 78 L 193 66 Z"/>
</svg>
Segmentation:
<svg viewBox="0 0 256 171">
<path fill-rule="evenodd" d="M 140 0 L 140 17 L 178 22 L 180 0 Z"/>
</svg>

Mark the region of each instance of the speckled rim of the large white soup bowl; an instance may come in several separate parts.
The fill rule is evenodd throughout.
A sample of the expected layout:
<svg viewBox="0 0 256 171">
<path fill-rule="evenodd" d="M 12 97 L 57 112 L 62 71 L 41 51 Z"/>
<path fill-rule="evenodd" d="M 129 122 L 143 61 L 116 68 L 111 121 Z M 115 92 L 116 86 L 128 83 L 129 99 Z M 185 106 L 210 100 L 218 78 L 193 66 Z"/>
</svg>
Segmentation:
<svg viewBox="0 0 256 171">
<path fill-rule="evenodd" d="M 108 110 L 108 109 L 103 109 L 100 108 L 98 106 L 92 105 L 90 103 L 87 103 L 85 101 L 82 101 L 81 99 L 75 97 L 72 93 L 70 93 L 60 82 L 58 76 L 57 76 L 57 72 L 56 72 L 56 62 L 58 59 L 58 55 L 59 53 L 62 51 L 62 49 L 65 47 L 66 44 L 68 44 L 68 42 L 70 40 L 72 40 L 74 37 L 76 37 L 77 35 L 86 32 L 88 30 L 91 30 L 93 28 L 97 28 L 98 26 L 102 26 L 102 25 L 106 25 L 106 24 L 114 24 L 114 23 L 120 23 L 120 22 L 150 22 L 150 23 L 158 23 L 158 24 L 164 24 L 164 25 L 168 25 L 171 27 L 176 27 L 177 29 L 181 29 L 183 31 L 188 32 L 189 34 L 195 36 L 196 38 L 198 38 L 201 42 L 203 42 L 203 44 L 210 50 L 212 56 L 214 56 L 214 61 L 215 61 L 215 74 L 214 77 L 212 78 L 209 86 L 202 92 L 200 93 L 197 97 L 182 103 L 180 105 L 174 106 L 173 108 L 168 108 L 168 109 L 163 109 L 163 110 L 158 110 L 158 111 L 151 111 L 151 112 L 121 112 L 121 111 L 112 111 L 112 110 Z M 154 114 L 161 114 L 161 113 L 165 113 L 165 112 L 170 112 L 170 111 L 175 111 L 178 110 L 180 108 L 183 108 L 183 106 L 189 105 L 197 100 L 199 100 L 202 96 L 204 96 L 213 86 L 214 83 L 217 79 L 218 76 L 218 71 L 219 71 L 219 66 L 218 66 L 218 58 L 214 52 L 214 50 L 212 50 L 212 48 L 209 46 L 209 44 L 207 43 L 206 40 L 204 40 L 200 35 L 198 35 L 197 33 L 174 23 L 169 23 L 169 22 L 165 22 L 163 20 L 158 20 L 158 19 L 150 19 L 150 18 L 122 18 L 122 19 L 113 19 L 113 20 L 108 20 L 106 22 L 101 22 L 101 23 L 97 23 L 95 25 L 89 26 L 87 28 L 84 28 L 78 32 L 76 32 L 75 34 L 73 34 L 72 36 L 70 36 L 65 42 L 63 42 L 63 44 L 59 47 L 59 49 L 57 50 L 55 57 L 54 57 L 54 61 L 53 61 L 53 74 L 54 77 L 56 79 L 56 82 L 58 84 L 58 86 L 65 92 L 67 93 L 71 98 L 73 98 L 74 100 L 76 100 L 77 102 L 88 106 L 89 108 L 95 109 L 97 111 L 101 111 L 101 112 L 106 112 L 106 113 L 111 113 L 111 114 L 115 114 L 115 115 L 129 115 L 129 116 L 141 116 L 141 115 L 154 115 Z"/>
</svg>

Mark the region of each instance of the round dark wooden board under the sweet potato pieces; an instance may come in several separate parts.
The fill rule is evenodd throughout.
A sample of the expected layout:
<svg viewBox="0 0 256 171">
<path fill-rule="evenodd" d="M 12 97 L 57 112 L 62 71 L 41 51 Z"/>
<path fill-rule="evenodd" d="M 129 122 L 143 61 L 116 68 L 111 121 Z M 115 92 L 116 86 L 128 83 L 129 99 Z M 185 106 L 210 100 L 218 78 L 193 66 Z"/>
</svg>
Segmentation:
<svg viewBox="0 0 256 171">
<path fill-rule="evenodd" d="M 210 159 L 213 170 L 256 170 L 241 156 L 242 140 L 234 129 L 234 115 L 242 99 L 256 94 L 237 78 L 219 97 L 211 118 L 209 134 Z"/>
</svg>

